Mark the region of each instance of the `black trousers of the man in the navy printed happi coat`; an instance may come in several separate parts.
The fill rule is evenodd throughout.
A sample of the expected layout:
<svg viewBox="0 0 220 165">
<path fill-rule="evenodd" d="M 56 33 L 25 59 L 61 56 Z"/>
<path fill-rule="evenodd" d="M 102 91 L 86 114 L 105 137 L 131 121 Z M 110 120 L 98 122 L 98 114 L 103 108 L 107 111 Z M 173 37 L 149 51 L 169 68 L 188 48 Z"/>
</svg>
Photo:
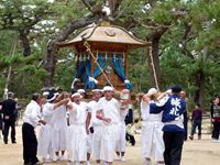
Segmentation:
<svg viewBox="0 0 220 165">
<path fill-rule="evenodd" d="M 179 165 L 182 160 L 182 150 L 185 139 L 184 132 L 164 132 L 163 135 L 165 151 L 165 165 Z"/>
</svg>

